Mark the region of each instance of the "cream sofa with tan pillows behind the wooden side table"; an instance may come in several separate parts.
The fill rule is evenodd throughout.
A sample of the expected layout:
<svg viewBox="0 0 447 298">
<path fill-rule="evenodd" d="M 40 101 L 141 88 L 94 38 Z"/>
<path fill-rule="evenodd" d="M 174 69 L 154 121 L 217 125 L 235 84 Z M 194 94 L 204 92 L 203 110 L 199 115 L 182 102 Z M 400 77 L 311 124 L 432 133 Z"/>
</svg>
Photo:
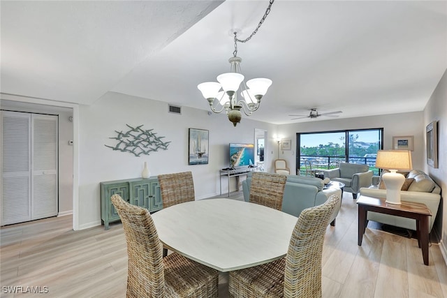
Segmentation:
<svg viewBox="0 0 447 298">
<path fill-rule="evenodd" d="M 439 202 L 441 201 L 441 188 L 433 179 L 420 170 L 411 170 L 406 174 L 407 179 L 414 180 L 409 184 L 407 191 L 400 191 L 400 198 L 406 202 L 417 202 L 427 205 L 428 209 L 432 211 L 432 216 L 429 223 L 429 232 L 432 231 L 434 218 L 438 213 Z M 374 184 L 369 188 L 360 188 L 360 195 L 367 195 L 374 198 L 386 198 L 386 189 L 379 189 L 379 177 L 374 177 Z M 393 216 L 388 214 L 378 214 L 376 212 L 368 211 L 368 221 L 376 221 L 378 223 L 385 223 L 387 225 L 394 225 L 409 230 L 416 230 L 416 221 L 410 218 L 402 218 L 400 216 Z"/>
</svg>

